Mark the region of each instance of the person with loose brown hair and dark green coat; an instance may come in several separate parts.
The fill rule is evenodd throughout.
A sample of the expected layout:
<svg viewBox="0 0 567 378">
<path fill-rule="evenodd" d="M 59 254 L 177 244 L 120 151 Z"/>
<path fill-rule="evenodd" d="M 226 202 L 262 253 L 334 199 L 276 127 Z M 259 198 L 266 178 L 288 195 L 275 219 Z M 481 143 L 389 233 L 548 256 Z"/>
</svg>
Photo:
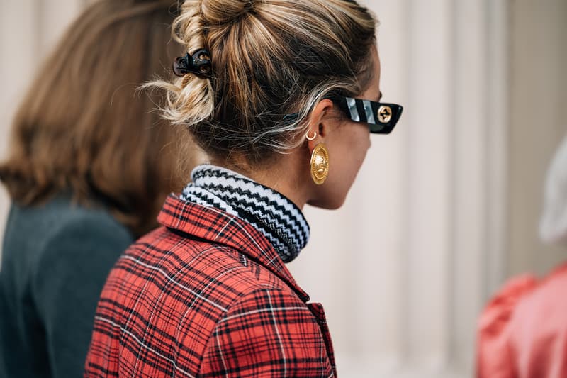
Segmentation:
<svg viewBox="0 0 567 378">
<path fill-rule="evenodd" d="M 96 2 L 20 106 L 0 165 L 13 201 L 0 273 L 0 377 L 83 373 L 108 272 L 181 188 L 174 130 L 136 93 L 180 53 L 169 43 L 175 5 Z"/>
</svg>

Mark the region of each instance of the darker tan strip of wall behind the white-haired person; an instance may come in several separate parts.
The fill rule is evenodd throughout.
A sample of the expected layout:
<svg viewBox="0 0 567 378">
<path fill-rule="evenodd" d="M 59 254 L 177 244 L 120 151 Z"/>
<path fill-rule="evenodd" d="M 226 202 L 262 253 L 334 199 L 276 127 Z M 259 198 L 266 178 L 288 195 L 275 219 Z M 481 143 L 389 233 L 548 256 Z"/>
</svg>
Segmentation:
<svg viewBox="0 0 567 378">
<path fill-rule="evenodd" d="M 567 1 L 516 0 L 510 19 L 507 273 L 543 274 L 567 259 L 537 236 L 546 169 L 567 133 Z"/>
</svg>

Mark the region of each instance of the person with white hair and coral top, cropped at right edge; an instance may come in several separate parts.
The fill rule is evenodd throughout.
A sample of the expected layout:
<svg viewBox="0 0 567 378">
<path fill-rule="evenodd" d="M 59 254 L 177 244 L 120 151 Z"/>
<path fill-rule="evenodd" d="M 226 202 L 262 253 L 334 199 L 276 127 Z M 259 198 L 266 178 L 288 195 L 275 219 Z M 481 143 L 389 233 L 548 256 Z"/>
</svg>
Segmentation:
<svg viewBox="0 0 567 378">
<path fill-rule="evenodd" d="M 541 240 L 567 246 L 567 137 L 547 174 Z M 567 377 L 567 262 L 544 279 L 510 280 L 481 315 L 477 376 Z"/>
</svg>

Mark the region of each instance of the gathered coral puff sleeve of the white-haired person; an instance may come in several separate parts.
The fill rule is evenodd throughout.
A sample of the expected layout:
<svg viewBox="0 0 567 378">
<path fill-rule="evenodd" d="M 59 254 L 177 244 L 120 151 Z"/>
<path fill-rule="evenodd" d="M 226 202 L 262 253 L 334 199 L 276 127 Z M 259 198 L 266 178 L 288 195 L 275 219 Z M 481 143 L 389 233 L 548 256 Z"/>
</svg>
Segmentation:
<svg viewBox="0 0 567 378">
<path fill-rule="evenodd" d="M 517 377 L 510 321 L 517 304 L 538 285 L 537 279 L 524 274 L 511 279 L 493 296 L 478 322 L 476 376 L 478 378 Z"/>
</svg>

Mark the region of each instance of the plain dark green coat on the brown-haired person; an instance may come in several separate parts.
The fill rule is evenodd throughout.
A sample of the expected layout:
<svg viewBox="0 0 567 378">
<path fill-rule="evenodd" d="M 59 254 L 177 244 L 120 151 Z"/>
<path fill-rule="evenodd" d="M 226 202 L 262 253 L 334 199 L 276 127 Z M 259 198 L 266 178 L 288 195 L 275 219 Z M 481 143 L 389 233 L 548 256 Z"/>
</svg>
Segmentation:
<svg viewBox="0 0 567 378">
<path fill-rule="evenodd" d="M 133 242 L 101 209 L 11 207 L 0 270 L 0 377 L 82 377 L 106 276 Z"/>
</svg>

